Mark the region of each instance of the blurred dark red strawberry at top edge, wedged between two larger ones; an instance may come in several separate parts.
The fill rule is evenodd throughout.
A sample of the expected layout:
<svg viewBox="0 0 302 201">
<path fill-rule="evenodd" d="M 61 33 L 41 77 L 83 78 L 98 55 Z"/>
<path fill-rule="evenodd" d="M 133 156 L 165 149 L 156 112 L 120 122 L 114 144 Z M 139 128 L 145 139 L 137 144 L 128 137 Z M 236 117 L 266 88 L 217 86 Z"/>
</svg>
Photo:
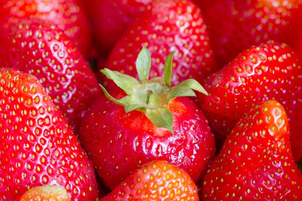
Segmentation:
<svg viewBox="0 0 302 201">
<path fill-rule="evenodd" d="M 153 0 L 92 0 L 88 14 L 95 37 L 106 55 L 135 19 L 140 18 Z"/>
</svg>

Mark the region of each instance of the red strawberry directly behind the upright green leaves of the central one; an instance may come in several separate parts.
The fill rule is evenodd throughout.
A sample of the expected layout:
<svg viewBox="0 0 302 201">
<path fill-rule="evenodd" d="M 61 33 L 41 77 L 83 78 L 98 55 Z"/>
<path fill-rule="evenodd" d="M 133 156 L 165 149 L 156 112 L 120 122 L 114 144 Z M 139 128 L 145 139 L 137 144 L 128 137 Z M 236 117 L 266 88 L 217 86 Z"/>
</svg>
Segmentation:
<svg viewBox="0 0 302 201">
<path fill-rule="evenodd" d="M 135 59 L 146 46 L 153 57 L 150 77 L 163 76 L 166 56 L 176 51 L 172 85 L 188 78 L 202 81 L 216 70 L 206 30 L 200 9 L 191 1 L 156 0 L 153 9 L 134 22 L 117 42 L 106 68 L 137 78 Z M 114 86 L 113 82 L 107 84 L 109 89 Z"/>
</svg>

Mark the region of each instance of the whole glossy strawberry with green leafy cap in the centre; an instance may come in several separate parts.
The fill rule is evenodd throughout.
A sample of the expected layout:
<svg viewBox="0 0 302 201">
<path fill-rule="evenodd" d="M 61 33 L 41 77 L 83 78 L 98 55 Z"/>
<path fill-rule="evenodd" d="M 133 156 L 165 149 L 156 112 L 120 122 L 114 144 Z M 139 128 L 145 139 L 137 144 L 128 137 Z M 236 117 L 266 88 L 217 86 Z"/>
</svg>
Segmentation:
<svg viewBox="0 0 302 201">
<path fill-rule="evenodd" d="M 131 171 L 153 160 L 166 160 L 197 181 L 214 156 L 214 136 L 207 120 L 188 97 L 192 89 L 206 93 L 193 79 L 170 88 L 171 53 L 165 78 L 148 80 L 151 58 L 144 47 L 138 55 L 139 80 L 102 70 L 124 93 L 97 100 L 82 121 L 80 137 L 95 169 L 111 189 Z"/>
</svg>

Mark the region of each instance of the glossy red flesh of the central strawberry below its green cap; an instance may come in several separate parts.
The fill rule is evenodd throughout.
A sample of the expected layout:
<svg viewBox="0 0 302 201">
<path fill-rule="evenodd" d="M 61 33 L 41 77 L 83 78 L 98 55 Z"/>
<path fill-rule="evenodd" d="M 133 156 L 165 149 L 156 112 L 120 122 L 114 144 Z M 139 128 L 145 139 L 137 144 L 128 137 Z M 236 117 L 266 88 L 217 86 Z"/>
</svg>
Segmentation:
<svg viewBox="0 0 302 201">
<path fill-rule="evenodd" d="M 88 111 L 80 130 L 82 144 L 111 189 L 131 171 L 153 160 L 178 166 L 194 181 L 201 177 L 215 153 L 207 121 L 187 97 L 171 100 L 168 107 L 174 116 L 174 134 L 154 126 L 144 113 L 126 114 L 122 106 L 105 97 Z"/>
</svg>

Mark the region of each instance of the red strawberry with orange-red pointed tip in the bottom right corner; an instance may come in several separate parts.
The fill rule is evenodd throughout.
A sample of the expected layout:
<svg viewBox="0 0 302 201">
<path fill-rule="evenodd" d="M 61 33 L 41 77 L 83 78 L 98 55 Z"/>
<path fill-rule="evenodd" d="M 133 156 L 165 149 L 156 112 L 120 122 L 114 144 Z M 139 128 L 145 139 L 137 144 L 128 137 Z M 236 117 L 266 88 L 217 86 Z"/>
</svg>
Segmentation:
<svg viewBox="0 0 302 201">
<path fill-rule="evenodd" d="M 203 177 L 203 200 L 302 200 L 284 108 L 256 106 L 225 140 Z"/>
</svg>

